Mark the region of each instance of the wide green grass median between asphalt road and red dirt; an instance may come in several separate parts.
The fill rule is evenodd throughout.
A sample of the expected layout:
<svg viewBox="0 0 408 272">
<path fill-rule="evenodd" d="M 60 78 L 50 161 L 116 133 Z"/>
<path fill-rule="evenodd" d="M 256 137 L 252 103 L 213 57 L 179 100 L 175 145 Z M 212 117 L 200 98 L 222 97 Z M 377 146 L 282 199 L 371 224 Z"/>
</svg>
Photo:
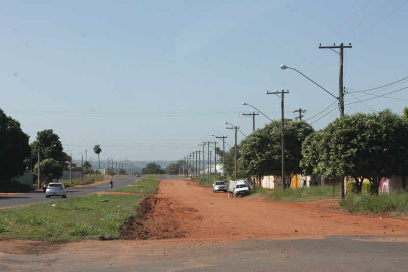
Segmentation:
<svg viewBox="0 0 408 272">
<path fill-rule="evenodd" d="M 143 182 L 146 188 L 156 190 L 157 180 Z M 0 209 L 0 240 L 65 242 L 99 237 L 120 239 L 119 227 L 136 214 L 144 197 L 144 194 L 93 194 Z"/>
</svg>

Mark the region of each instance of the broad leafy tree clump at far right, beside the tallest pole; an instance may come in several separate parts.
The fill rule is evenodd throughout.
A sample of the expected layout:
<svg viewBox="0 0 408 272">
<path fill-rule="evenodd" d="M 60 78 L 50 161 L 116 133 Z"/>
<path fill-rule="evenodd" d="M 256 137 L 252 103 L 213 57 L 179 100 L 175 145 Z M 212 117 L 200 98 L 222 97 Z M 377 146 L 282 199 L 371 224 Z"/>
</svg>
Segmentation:
<svg viewBox="0 0 408 272">
<path fill-rule="evenodd" d="M 408 122 L 390 110 L 344 115 L 304 141 L 302 166 L 328 178 L 351 176 L 359 192 L 368 179 L 378 194 L 382 178 L 408 174 L 407 138 Z"/>
</svg>

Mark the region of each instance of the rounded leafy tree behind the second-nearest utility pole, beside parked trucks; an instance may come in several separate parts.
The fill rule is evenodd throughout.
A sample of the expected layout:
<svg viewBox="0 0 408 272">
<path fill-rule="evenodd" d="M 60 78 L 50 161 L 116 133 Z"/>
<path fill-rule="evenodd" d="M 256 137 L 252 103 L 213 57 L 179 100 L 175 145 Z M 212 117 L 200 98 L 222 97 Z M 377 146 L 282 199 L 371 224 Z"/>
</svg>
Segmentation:
<svg viewBox="0 0 408 272">
<path fill-rule="evenodd" d="M 288 187 L 291 178 L 301 174 L 302 142 L 313 132 L 304 121 L 285 119 L 285 176 Z M 273 120 L 263 129 L 248 135 L 240 143 L 240 154 L 244 167 L 257 177 L 282 175 L 281 120 Z"/>
</svg>

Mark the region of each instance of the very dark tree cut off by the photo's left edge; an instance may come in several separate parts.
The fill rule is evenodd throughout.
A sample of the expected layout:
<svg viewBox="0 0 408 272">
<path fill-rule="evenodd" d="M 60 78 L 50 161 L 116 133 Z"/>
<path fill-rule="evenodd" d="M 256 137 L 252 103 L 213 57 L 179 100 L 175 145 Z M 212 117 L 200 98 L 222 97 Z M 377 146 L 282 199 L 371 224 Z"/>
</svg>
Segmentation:
<svg viewBox="0 0 408 272">
<path fill-rule="evenodd" d="M 24 174 L 30 162 L 24 162 L 30 157 L 29 138 L 17 120 L 6 116 L 0 109 L 0 184 Z"/>
</svg>

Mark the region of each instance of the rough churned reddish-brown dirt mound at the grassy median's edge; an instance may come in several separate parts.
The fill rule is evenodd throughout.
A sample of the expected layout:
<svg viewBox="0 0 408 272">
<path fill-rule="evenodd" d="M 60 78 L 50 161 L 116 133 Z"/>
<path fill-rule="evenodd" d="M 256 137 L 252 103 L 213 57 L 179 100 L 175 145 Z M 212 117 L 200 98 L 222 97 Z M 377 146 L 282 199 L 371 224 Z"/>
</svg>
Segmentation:
<svg viewBox="0 0 408 272">
<path fill-rule="evenodd" d="M 126 220 L 120 229 L 126 240 L 147 240 L 185 237 L 180 228 L 180 214 L 189 216 L 197 212 L 180 203 L 156 196 L 148 197 L 139 203 L 137 215 Z"/>
</svg>

